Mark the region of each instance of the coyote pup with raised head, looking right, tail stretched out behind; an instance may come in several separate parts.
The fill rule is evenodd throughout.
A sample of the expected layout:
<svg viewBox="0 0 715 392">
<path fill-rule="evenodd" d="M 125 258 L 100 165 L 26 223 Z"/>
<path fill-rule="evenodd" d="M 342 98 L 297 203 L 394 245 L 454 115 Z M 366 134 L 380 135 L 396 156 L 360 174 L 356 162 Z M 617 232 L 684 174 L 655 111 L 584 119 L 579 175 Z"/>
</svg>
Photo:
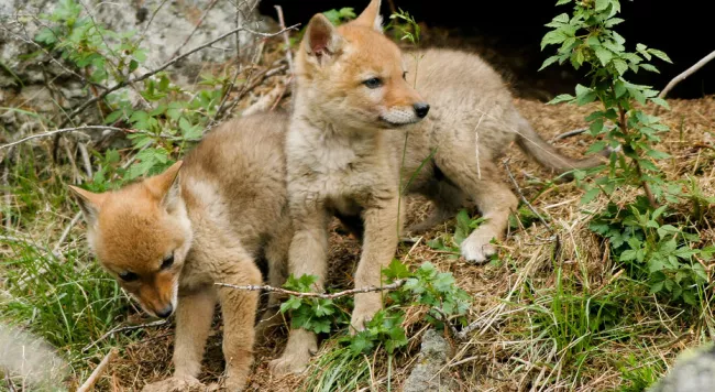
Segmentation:
<svg viewBox="0 0 715 392">
<path fill-rule="evenodd" d="M 329 217 L 345 222 L 359 217 L 364 232 L 355 286 L 381 284 L 403 220 L 400 166 L 408 190 L 427 195 L 437 207 L 419 228 L 449 218 L 466 200 L 476 204 L 487 221 L 464 240 L 462 254 L 483 262 L 495 252 L 490 241 L 503 236 L 517 206 L 494 163 L 510 142 L 557 171 L 600 162 L 564 157 L 542 141 L 480 57 L 437 50 L 403 56 L 383 35 L 381 22 L 380 0 L 340 28 L 316 14 L 298 50 L 286 138 L 295 226 L 289 269 L 295 275 L 324 276 Z M 358 294 L 352 326 L 362 328 L 381 307 L 381 294 Z M 314 335 L 292 330 L 272 368 L 299 371 L 315 349 Z"/>
</svg>

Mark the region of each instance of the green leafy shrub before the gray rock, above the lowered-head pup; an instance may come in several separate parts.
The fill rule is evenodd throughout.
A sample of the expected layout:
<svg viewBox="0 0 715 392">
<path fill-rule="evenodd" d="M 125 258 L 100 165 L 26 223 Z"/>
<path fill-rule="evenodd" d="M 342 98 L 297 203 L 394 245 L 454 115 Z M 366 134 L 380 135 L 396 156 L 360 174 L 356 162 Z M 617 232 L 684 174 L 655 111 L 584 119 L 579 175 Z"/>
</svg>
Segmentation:
<svg viewBox="0 0 715 392">
<path fill-rule="evenodd" d="M 135 31 L 116 33 L 84 13 L 76 0 L 62 0 L 51 14 L 40 19 L 47 26 L 40 30 L 35 41 L 48 51 L 59 52 L 90 81 L 88 92 L 98 96 L 98 86 L 129 80 L 132 73 L 145 62 L 143 36 Z M 175 157 L 198 142 L 205 129 L 217 117 L 217 110 L 232 80 L 229 77 L 205 77 L 204 89 L 190 94 L 172 84 L 168 74 L 161 72 L 133 83 L 144 108 L 136 109 L 127 90 L 109 94 L 101 102 L 103 122 L 116 127 L 131 127 L 128 139 L 138 154 L 128 168 L 117 171 L 120 185 L 143 175 L 164 171 Z M 188 99 L 187 99 L 188 97 Z M 117 179 L 117 177 L 114 179 Z M 106 173 L 92 178 L 95 188 L 107 188 Z"/>
</svg>

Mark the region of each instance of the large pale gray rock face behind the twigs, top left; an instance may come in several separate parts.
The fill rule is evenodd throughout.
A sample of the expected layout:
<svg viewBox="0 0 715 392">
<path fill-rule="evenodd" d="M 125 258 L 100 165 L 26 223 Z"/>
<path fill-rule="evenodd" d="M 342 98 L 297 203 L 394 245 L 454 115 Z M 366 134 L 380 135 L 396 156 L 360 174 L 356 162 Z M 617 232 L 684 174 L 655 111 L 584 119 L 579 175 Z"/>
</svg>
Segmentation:
<svg viewBox="0 0 715 392">
<path fill-rule="evenodd" d="M 145 48 L 146 61 L 134 72 L 139 75 L 166 63 L 179 50 L 179 53 L 186 53 L 235 29 L 235 3 L 241 4 L 242 21 L 246 29 L 260 32 L 275 30 L 275 22 L 257 14 L 257 7 L 254 6 L 258 1 L 217 0 L 193 35 L 191 32 L 211 3 L 210 0 L 82 0 L 78 3 L 87 7 L 84 14 L 89 11 L 95 21 L 108 30 L 117 33 L 135 31 L 135 36 L 144 36 L 141 46 Z M 67 73 L 51 62 L 47 55 L 38 53 L 32 58 L 26 57 L 28 54 L 37 52 L 32 40 L 47 23 L 37 15 L 51 14 L 58 3 L 56 0 L 0 0 L 0 89 L 6 91 L 0 96 L 0 106 L 16 107 L 24 104 L 28 109 L 56 115 L 59 112 L 58 107 L 76 107 L 89 96 L 88 86 L 80 77 Z M 242 55 L 251 55 L 250 47 L 255 46 L 251 45 L 254 39 L 249 32 L 239 34 Z M 106 41 L 112 46 L 111 37 L 106 37 Z M 235 36 L 229 36 L 177 62 L 167 72 L 176 83 L 193 85 L 206 63 L 229 61 L 235 55 Z M 57 53 L 53 55 L 57 57 Z M 63 62 L 63 65 L 74 69 L 67 63 Z M 107 84 L 111 86 L 114 80 Z M 52 94 L 47 91 L 48 87 L 53 90 Z M 37 89 L 45 89 L 45 92 L 38 94 Z M 133 94 L 127 92 L 130 96 Z M 28 97 L 33 99 L 28 101 Z M 26 120 L 21 118 L 15 122 Z M 0 129 L 8 124 L 0 123 Z"/>
</svg>

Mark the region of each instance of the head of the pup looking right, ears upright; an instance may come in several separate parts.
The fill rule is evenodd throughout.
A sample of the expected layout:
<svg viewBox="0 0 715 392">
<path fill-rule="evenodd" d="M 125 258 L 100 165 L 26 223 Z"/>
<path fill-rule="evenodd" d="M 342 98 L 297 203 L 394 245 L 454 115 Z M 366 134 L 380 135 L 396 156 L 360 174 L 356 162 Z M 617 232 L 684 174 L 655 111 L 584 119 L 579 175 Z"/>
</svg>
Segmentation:
<svg viewBox="0 0 715 392">
<path fill-rule="evenodd" d="M 415 108 L 426 104 L 405 80 L 402 53 L 383 35 L 381 22 L 380 0 L 340 28 L 322 14 L 310 20 L 297 55 L 298 87 L 323 120 L 383 129 L 421 119 Z M 369 87 L 370 79 L 378 86 Z"/>
</svg>

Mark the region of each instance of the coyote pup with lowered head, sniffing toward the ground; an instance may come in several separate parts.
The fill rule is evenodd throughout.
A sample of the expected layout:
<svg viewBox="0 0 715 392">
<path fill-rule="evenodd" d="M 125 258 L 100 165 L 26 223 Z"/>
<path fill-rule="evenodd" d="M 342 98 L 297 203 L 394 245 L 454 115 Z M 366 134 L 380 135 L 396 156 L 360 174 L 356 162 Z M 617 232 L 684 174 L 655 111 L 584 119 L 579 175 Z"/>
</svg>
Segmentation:
<svg viewBox="0 0 715 392">
<path fill-rule="evenodd" d="M 72 187 L 89 246 L 142 308 L 176 313 L 174 378 L 196 384 L 213 308 L 223 316 L 227 386 L 240 390 L 253 361 L 262 249 L 280 285 L 290 241 L 283 144 L 287 116 L 253 115 L 222 124 L 164 173 L 101 194 Z"/>
</svg>

